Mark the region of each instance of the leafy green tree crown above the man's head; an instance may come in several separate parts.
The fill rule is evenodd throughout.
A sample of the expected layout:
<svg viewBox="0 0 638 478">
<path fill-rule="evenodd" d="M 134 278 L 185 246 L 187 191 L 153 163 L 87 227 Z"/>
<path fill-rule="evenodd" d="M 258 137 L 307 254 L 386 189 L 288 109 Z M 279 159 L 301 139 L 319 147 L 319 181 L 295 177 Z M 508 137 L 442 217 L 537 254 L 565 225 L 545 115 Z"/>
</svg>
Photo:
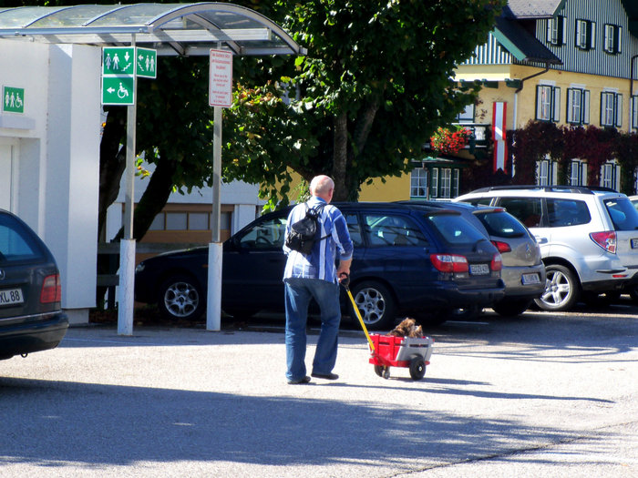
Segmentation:
<svg viewBox="0 0 638 478">
<path fill-rule="evenodd" d="M 355 200 L 372 178 L 406 171 L 436 127 L 476 97 L 476 86 L 450 78 L 486 41 L 504 4 L 276 2 L 273 18 L 308 56 L 296 58 L 293 71 L 272 68 L 277 81 L 259 88 L 240 77 L 224 116 L 225 174 L 259 182 L 274 206 L 287 202 L 290 171 L 306 180 L 329 174 L 335 200 Z"/>
</svg>

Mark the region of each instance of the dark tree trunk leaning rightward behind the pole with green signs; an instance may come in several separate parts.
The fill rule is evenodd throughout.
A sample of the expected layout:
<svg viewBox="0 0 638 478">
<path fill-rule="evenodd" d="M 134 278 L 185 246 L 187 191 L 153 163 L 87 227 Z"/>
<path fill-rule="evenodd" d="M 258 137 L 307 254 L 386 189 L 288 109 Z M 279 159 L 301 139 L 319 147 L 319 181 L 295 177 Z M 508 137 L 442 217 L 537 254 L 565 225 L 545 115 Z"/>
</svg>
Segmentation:
<svg viewBox="0 0 638 478">
<path fill-rule="evenodd" d="M 177 161 L 170 160 L 168 155 L 160 151 L 161 160 L 149 178 L 144 194 L 139 199 L 138 206 L 133 214 L 133 239 L 140 240 L 144 237 L 153 219 L 161 212 L 169 200 L 173 190 L 173 174 L 177 169 Z M 124 237 L 124 228 L 119 229 L 114 240 Z"/>
</svg>

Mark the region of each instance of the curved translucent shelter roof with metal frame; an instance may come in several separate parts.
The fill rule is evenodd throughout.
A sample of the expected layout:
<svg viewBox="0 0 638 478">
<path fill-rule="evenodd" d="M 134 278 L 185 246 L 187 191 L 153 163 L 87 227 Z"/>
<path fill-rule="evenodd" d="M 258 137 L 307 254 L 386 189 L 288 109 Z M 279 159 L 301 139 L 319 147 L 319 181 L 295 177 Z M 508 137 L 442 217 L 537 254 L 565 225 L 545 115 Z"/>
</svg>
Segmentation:
<svg viewBox="0 0 638 478">
<path fill-rule="evenodd" d="M 138 46 L 164 56 L 305 55 L 283 28 L 250 8 L 220 2 L 0 8 L 0 38 Z"/>
</svg>

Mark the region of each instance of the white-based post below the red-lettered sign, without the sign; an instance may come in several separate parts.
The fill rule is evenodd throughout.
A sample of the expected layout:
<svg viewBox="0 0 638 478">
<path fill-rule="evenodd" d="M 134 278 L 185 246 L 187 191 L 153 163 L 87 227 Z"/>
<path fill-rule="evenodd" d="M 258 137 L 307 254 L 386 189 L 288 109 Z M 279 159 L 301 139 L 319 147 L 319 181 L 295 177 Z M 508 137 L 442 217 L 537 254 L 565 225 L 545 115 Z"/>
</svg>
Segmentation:
<svg viewBox="0 0 638 478">
<path fill-rule="evenodd" d="M 221 188 L 221 107 L 213 111 L 212 141 L 212 242 L 208 256 L 208 301 L 206 330 L 221 331 L 221 258 L 220 188 Z"/>
</svg>

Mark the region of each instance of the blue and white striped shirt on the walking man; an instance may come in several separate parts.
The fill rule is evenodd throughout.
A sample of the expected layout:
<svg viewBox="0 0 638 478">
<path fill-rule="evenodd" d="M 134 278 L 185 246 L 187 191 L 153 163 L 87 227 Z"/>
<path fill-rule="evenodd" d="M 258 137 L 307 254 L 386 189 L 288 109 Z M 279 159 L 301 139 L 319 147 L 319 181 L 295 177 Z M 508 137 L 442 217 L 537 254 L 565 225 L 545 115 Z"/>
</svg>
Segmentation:
<svg viewBox="0 0 638 478">
<path fill-rule="evenodd" d="M 354 246 L 348 225 L 341 211 L 330 204 L 326 204 L 324 199 L 313 197 L 307 202 L 309 208 L 316 208 L 325 204 L 319 217 L 321 227 L 321 237 L 326 239 L 314 242 L 313 250 L 309 255 L 283 246 L 286 253 L 286 268 L 283 271 L 283 279 L 290 277 L 305 279 L 322 279 L 328 282 L 337 282 L 336 259 L 352 259 Z M 305 204 L 298 204 L 290 211 L 288 223 L 286 224 L 286 235 L 290 232 L 291 225 L 305 217 Z M 337 251 L 338 249 L 338 251 Z M 337 256 L 338 252 L 338 256 Z"/>
</svg>

